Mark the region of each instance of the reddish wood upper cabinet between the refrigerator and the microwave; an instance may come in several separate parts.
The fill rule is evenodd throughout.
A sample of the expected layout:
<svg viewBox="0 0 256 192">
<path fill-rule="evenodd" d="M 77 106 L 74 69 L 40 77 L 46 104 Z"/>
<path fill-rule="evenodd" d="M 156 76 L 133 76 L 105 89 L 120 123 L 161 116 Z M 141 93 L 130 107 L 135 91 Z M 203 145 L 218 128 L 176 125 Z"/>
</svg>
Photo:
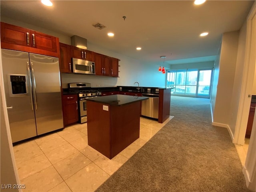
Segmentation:
<svg viewBox="0 0 256 192">
<path fill-rule="evenodd" d="M 72 64 L 71 64 L 71 46 L 60 43 L 60 72 L 62 73 L 71 73 Z"/>
</svg>

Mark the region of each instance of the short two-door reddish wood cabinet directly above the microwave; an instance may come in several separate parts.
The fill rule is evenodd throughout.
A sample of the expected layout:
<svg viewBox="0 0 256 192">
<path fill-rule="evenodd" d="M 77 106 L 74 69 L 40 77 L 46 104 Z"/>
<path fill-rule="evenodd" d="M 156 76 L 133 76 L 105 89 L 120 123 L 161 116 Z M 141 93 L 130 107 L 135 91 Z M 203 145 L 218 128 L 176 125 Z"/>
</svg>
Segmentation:
<svg viewBox="0 0 256 192">
<path fill-rule="evenodd" d="M 94 52 L 71 46 L 71 57 L 88 61 L 94 61 Z"/>
</svg>

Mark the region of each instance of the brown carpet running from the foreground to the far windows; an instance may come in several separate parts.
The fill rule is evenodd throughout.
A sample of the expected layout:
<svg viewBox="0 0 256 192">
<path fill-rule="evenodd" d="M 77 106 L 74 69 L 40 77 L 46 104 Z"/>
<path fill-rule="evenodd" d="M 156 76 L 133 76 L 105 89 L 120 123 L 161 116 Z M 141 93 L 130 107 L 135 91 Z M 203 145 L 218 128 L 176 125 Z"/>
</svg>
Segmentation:
<svg viewBox="0 0 256 192">
<path fill-rule="evenodd" d="M 171 97 L 174 118 L 96 192 L 249 192 L 226 128 L 210 100 Z"/>
</svg>

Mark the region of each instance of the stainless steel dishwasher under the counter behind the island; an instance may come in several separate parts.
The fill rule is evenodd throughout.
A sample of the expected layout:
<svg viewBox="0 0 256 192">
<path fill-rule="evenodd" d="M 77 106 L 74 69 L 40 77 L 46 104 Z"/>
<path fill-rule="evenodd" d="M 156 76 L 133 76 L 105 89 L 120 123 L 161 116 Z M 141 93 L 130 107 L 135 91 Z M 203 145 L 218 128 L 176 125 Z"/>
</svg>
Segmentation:
<svg viewBox="0 0 256 192">
<path fill-rule="evenodd" d="M 144 93 L 142 96 L 148 99 L 142 101 L 141 115 L 158 119 L 159 95 Z"/>
</svg>

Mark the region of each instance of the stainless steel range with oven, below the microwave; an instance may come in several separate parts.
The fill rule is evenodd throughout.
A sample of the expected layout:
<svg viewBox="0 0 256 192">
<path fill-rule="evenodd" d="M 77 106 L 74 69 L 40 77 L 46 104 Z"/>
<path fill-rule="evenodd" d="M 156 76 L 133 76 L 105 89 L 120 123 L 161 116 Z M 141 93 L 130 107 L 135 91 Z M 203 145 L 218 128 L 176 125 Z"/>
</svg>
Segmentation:
<svg viewBox="0 0 256 192">
<path fill-rule="evenodd" d="M 101 92 L 98 89 L 92 89 L 90 83 L 69 83 L 69 93 L 77 93 L 79 100 L 79 120 L 80 123 L 87 122 L 87 107 L 86 98 L 101 96 Z"/>
</svg>

